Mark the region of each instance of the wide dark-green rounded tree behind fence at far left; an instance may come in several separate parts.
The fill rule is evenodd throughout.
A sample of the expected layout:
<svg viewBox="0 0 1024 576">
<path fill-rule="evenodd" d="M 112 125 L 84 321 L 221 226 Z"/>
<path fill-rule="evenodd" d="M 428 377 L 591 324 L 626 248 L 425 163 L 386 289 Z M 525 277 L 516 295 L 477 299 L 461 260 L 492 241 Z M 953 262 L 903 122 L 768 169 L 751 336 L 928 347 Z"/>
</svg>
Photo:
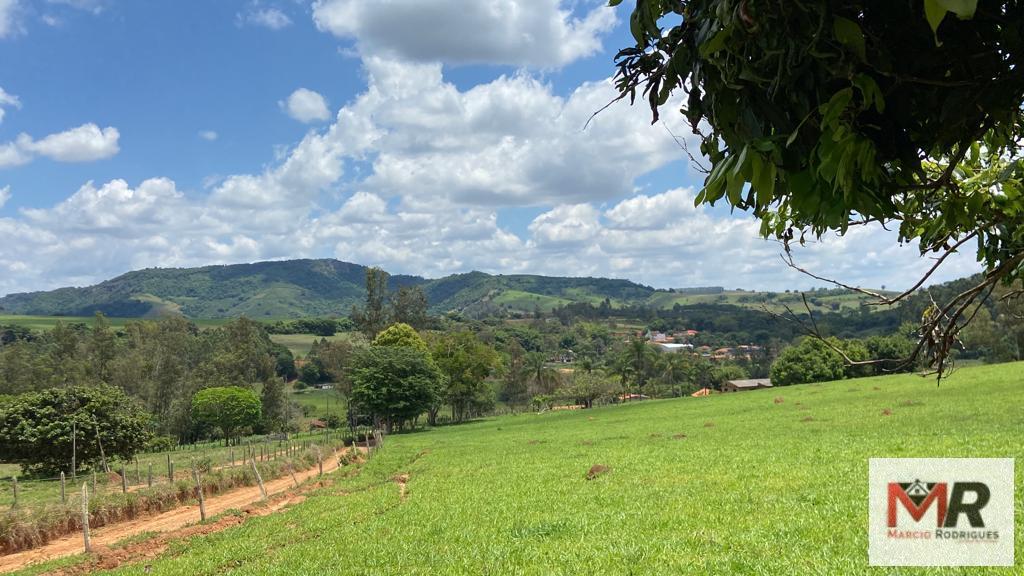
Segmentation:
<svg viewBox="0 0 1024 576">
<path fill-rule="evenodd" d="M 32 472 L 70 472 L 73 451 L 78 468 L 102 455 L 130 459 L 152 437 L 150 415 L 114 386 L 50 388 L 0 406 L 0 454 Z"/>
</svg>

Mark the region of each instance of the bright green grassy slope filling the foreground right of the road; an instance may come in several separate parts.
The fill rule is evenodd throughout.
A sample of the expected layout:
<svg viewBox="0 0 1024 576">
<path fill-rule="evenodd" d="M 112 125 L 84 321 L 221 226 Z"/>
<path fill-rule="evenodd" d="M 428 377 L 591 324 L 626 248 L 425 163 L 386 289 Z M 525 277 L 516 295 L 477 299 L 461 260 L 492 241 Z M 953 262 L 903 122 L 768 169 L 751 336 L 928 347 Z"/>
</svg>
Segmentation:
<svg viewBox="0 0 1024 576">
<path fill-rule="evenodd" d="M 283 513 L 175 546 L 153 569 L 866 573 L 867 459 L 1024 458 L 1022 379 L 1024 364 L 985 366 L 961 370 L 938 388 L 893 376 L 507 416 L 392 437 L 360 476 Z M 775 404 L 776 397 L 784 402 Z M 882 414 L 887 408 L 892 415 Z M 678 434 L 687 437 L 674 439 Z M 584 480 L 596 463 L 612 471 Z M 389 480 L 399 472 L 411 476 L 403 502 Z M 1017 466 L 1017 484 L 1024 485 L 1024 466 Z M 118 573 L 141 574 L 142 566 Z"/>
</svg>

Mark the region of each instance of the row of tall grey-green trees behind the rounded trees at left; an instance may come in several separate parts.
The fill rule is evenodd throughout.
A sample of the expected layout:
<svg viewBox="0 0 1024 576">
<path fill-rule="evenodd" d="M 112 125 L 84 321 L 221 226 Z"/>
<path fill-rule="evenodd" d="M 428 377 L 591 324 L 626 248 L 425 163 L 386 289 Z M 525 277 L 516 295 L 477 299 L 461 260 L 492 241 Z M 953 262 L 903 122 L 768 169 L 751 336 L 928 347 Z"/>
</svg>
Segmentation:
<svg viewBox="0 0 1024 576">
<path fill-rule="evenodd" d="M 285 380 L 291 353 L 245 318 L 200 330 L 181 318 L 128 323 L 114 330 L 102 315 L 93 326 L 57 325 L 0 346 L 0 395 L 110 385 L 153 415 L 154 431 L 182 441 L 209 431 L 194 417 L 203 388 L 242 386 L 260 399 L 257 430 L 288 427 L 294 412 Z"/>
</svg>

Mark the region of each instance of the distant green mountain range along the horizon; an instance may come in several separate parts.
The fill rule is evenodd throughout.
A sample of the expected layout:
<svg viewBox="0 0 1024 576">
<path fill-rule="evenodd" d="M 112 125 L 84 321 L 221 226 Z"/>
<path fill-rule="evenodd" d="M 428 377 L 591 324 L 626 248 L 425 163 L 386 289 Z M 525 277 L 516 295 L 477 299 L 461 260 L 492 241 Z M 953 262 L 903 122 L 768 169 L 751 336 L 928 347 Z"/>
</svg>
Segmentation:
<svg viewBox="0 0 1024 576">
<path fill-rule="evenodd" d="M 194 319 L 248 316 L 254 319 L 344 316 L 366 297 L 367 266 L 334 259 L 302 259 L 194 269 L 146 269 L 85 288 L 10 294 L 0 314 L 145 318 L 181 314 Z M 572 302 L 613 305 L 729 303 L 760 306 L 777 302 L 763 292 L 722 288 L 655 290 L 628 280 L 528 275 L 457 274 L 436 280 L 391 277 L 390 287 L 420 286 L 434 313 L 507 308 L 532 312 Z M 767 297 L 766 297 L 767 296 Z M 790 294 L 779 294 L 779 297 Z M 815 305 L 838 310 L 859 300 L 841 291 L 823 292 Z"/>
</svg>

